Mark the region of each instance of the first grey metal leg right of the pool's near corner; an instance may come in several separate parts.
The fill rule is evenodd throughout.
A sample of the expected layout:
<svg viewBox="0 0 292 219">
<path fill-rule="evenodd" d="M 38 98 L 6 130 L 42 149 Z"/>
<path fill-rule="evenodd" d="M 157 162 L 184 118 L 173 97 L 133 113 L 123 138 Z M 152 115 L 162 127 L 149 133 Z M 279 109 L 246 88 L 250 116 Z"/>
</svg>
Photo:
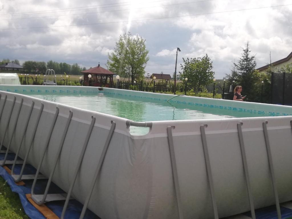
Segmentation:
<svg viewBox="0 0 292 219">
<path fill-rule="evenodd" d="M 174 145 L 173 145 L 173 138 L 172 138 L 172 128 L 171 126 L 167 127 L 167 138 L 168 138 L 168 147 L 169 147 L 169 154 L 170 154 L 170 161 L 171 161 L 171 170 L 173 176 L 173 183 L 175 189 L 175 196 L 176 196 L 176 203 L 178 206 L 178 217 L 183 219 L 183 210 L 182 210 L 182 203 L 180 197 L 180 187 L 178 183 L 178 170 L 176 168 L 176 161 L 175 161 L 175 153 L 174 153 Z"/>
</svg>

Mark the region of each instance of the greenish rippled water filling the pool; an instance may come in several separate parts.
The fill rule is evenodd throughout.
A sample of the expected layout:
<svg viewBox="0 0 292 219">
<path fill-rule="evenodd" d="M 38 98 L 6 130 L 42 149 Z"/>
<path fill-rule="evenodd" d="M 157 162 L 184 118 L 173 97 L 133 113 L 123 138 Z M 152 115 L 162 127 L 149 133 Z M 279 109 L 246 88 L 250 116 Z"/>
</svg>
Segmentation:
<svg viewBox="0 0 292 219">
<path fill-rule="evenodd" d="M 182 106 L 175 106 L 168 102 L 143 102 L 117 98 L 114 95 L 105 95 L 104 93 L 98 93 L 96 95 L 30 94 L 29 96 L 138 122 L 259 116 L 258 114 L 232 112 L 224 109 L 206 109 L 199 106 L 187 106 L 190 109 L 185 109 Z"/>
</svg>

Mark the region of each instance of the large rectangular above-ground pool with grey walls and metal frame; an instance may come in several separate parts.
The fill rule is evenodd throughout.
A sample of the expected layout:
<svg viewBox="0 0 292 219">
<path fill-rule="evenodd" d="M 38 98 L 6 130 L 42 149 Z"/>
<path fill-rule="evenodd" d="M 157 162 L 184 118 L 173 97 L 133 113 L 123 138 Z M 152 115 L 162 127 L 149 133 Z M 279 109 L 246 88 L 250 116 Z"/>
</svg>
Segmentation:
<svg viewBox="0 0 292 219">
<path fill-rule="evenodd" d="M 292 107 L 113 88 L 0 89 L 3 145 L 100 218 L 221 218 L 292 200 Z M 149 132 L 130 132 L 136 126 Z"/>
</svg>

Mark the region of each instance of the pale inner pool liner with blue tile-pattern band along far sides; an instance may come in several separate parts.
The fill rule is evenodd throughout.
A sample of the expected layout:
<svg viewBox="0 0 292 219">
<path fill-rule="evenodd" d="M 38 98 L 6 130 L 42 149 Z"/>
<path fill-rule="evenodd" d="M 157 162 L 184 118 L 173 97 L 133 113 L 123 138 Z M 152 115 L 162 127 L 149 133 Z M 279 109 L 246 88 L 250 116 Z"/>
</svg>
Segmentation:
<svg viewBox="0 0 292 219">
<path fill-rule="evenodd" d="M 175 100 L 170 100 L 175 95 L 122 90 L 114 88 L 98 88 L 84 86 L 29 86 L 29 85 L 0 85 L 0 91 L 8 91 L 13 93 L 29 94 L 68 94 L 68 95 L 95 95 L 104 93 L 115 95 L 121 98 L 130 98 L 145 102 L 167 102 L 187 107 L 204 107 L 211 109 L 228 110 L 232 112 L 249 113 L 253 116 L 291 116 L 292 107 L 261 104 L 252 102 L 239 102 L 232 100 L 219 100 L 213 98 L 199 98 L 190 96 L 177 96 Z"/>
</svg>

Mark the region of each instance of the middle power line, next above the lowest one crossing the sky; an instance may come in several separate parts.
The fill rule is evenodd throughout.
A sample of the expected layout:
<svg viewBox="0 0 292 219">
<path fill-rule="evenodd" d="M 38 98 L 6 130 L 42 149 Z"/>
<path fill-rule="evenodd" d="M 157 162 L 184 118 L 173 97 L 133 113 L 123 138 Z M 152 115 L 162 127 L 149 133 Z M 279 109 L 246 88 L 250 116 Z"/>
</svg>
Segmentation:
<svg viewBox="0 0 292 219">
<path fill-rule="evenodd" d="M 136 9 L 157 8 L 157 7 L 183 5 L 183 4 L 193 4 L 193 3 L 206 2 L 206 1 L 214 1 L 214 0 L 192 1 L 192 2 L 185 2 L 185 3 L 177 3 L 177 4 L 168 4 L 168 5 L 142 7 L 142 8 L 136 8 Z M 2 20 L 22 20 L 22 19 L 32 19 L 32 18 L 53 18 L 53 17 L 62 17 L 62 16 L 71 16 L 71 15 L 97 14 L 97 13 L 117 12 L 117 11 L 129 11 L 129 10 L 130 9 L 120 9 L 120 10 L 112 10 L 112 11 L 86 12 L 86 13 L 78 13 L 78 14 L 54 15 L 54 16 L 30 17 L 30 18 L 12 18 L 12 19 L 2 19 Z"/>
</svg>

